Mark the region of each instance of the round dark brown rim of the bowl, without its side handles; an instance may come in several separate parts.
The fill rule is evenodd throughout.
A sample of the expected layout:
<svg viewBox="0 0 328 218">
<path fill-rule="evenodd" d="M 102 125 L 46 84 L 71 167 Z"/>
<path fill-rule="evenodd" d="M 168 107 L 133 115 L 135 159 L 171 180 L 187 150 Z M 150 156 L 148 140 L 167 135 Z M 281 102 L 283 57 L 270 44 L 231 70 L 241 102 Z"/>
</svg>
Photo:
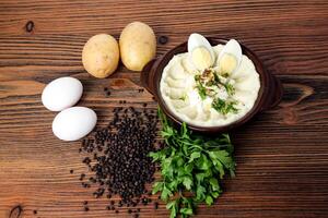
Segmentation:
<svg viewBox="0 0 328 218">
<path fill-rule="evenodd" d="M 213 38 L 213 37 L 207 37 L 207 39 L 210 41 L 211 46 L 216 46 L 218 44 L 223 44 L 225 45 L 227 43 L 227 39 L 225 38 Z M 192 123 L 188 123 L 184 120 L 181 120 L 179 117 L 174 114 L 174 112 L 171 111 L 171 109 L 166 106 L 165 100 L 162 97 L 161 94 L 161 78 L 163 74 L 164 68 L 167 65 L 167 63 L 172 60 L 172 58 L 175 55 L 186 52 L 187 51 L 187 41 L 177 45 L 176 47 L 169 49 L 166 53 L 164 53 L 159 60 L 155 61 L 153 65 L 153 71 L 155 71 L 154 80 L 154 96 L 157 99 L 157 102 L 161 107 L 161 109 L 164 111 L 164 113 L 173 120 L 175 123 L 181 125 L 183 122 L 186 122 L 188 128 L 196 131 L 196 132 L 201 132 L 201 133 L 220 133 L 220 132 L 227 132 L 232 129 L 235 129 L 239 125 L 243 125 L 247 121 L 249 121 L 257 112 L 259 112 L 262 108 L 262 106 L 266 104 L 266 96 L 269 94 L 269 80 L 270 75 L 267 73 L 265 70 L 262 62 L 259 60 L 259 58 L 250 50 L 248 49 L 245 45 L 243 45 L 241 41 L 238 41 L 243 55 L 247 56 L 254 63 L 255 69 L 257 73 L 259 74 L 260 78 L 260 88 L 258 90 L 258 96 L 257 99 L 253 106 L 253 108 L 244 114 L 242 118 L 225 124 L 225 125 L 211 125 L 211 126 L 203 126 L 203 125 L 197 125 Z"/>
</svg>

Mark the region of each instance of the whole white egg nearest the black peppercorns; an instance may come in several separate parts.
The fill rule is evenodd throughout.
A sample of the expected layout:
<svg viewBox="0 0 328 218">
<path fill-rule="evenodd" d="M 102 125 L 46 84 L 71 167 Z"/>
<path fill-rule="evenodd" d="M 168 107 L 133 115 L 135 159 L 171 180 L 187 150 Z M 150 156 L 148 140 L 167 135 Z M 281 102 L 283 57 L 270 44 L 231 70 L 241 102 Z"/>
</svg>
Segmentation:
<svg viewBox="0 0 328 218">
<path fill-rule="evenodd" d="M 52 132 L 63 141 L 77 141 L 87 135 L 97 122 L 96 113 L 85 107 L 72 107 L 59 112 L 52 121 Z"/>
</svg>

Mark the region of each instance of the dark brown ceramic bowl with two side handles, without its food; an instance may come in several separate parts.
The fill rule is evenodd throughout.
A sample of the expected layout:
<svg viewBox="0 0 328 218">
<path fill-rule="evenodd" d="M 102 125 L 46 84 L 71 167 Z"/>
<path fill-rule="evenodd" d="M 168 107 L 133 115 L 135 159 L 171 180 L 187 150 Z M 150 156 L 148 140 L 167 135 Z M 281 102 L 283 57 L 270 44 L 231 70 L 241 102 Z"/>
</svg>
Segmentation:
<svg viewBox="0 0 328 218">
<path fill-rule="evenodd" d="M 226 39 L 221 38 L 208 38 L 210 44 L 212 46 L 215 46 L 218 44 L 225 45 L 227 43 Z M 237 126 L 241 126 L 242 124 L 249 121 L 256 113 L 268 110 L 270 108 L 273 108 L 277 106 L 282 97 L 283 89 L 281 86 L 280 81 L 271 75 L 269 72 L 267 72 L 261 63 L 261 61 L 257 58 L 257 56 L 250 51 L 245 46 L 242 46 L 243 55 L 246 55 L 255 64 L 256 71 L 259 74 L 260 77 L 260 89 L 258 93 L 257 100 L 254 104 L 254 107 L 246 113 L 243 118 L 222 126 L 200 126 L 195 124 L 188 124 L 189 129 L 201 132 L 201 133 L 208 133 L 208 134 L 214 134 L 214 133 L 223 133 L 231 131 L 232 129 L 235 129 Z M 141 73 L 141 83 L 142 85 L 155 97 L 157 102 L 160 104 L 160 107 L 164 111 L 164 113 L 176 124 L 181 124 L 183 121 L 180 118 L 176 117 L 166 106 L 164 99 L 162 98 L 162 94 L 160 90 L 160 82 L 162 77 L 162 72 L 164 68 L 167 65 L 167 63 L 171 61 L 171 59 L 177 55 L 187 52 L 187 41 L 167 51 L 164 56 L 161 58 L 157 58 L 155 60 L 152 60 L 149 62 L 142 73 Z"/>
</svg>

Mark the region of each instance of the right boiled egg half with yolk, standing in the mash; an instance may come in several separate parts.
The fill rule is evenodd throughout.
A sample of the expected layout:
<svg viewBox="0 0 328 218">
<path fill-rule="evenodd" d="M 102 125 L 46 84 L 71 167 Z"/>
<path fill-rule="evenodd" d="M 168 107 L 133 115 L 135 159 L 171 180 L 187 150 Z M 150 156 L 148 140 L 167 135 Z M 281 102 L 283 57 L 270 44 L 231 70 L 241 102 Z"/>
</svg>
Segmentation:
<svg viewBox="0 0 328 218">
<path fill-rule="evenodd" d="M 231 75 L 235 72 L 242 62 L 242 47 L 235 39 L 230 39 L 223 47 L 218 57 L 216 64 L 220 69 L 220 74 Z"/>
</svg>

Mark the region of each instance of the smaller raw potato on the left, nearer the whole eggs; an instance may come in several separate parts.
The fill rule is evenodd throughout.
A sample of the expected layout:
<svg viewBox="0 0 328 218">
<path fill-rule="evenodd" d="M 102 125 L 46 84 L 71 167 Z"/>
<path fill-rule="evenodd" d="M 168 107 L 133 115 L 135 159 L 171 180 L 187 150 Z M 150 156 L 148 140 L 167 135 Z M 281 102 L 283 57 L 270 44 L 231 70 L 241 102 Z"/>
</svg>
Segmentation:
<svg viewBox="0 0 328 218">
<path fill-rule="evenodd" d="M 114 73 L 119 61 L 117 40 L 107 34 L 91 37 L 84 45 L 82 62 L 93 76 L 104 78 Z"/>
</svg>

